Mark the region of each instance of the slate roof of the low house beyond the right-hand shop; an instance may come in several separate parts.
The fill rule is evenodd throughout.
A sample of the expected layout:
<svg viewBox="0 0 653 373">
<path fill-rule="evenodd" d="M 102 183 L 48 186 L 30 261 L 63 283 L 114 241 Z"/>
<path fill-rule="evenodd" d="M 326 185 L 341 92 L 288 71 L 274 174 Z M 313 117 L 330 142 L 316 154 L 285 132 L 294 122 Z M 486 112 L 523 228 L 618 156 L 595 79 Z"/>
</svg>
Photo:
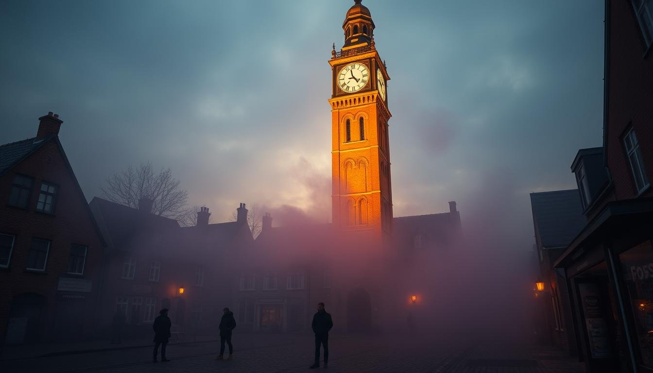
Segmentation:
<svg viewBox="0 0 653 373">
<path fill-rule="evenodd" d="M 566 247 L 587 224 L 578 189 L 531 193 L 530 198 L 542 248 Z"/>
</svg>

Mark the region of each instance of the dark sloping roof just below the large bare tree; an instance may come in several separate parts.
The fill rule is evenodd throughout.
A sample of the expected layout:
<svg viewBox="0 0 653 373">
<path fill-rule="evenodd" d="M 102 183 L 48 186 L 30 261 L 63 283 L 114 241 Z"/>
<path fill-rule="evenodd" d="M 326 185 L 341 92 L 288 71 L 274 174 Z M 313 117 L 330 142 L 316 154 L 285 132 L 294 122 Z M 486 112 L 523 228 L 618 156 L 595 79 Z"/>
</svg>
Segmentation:
<svg viewBox="0 0 653 373">
<path fill-rule="evenodd" d="M 135 208 L 99 197 L 93 197 L 90 206 L 106 241 L 115 250 L 129 250 L 141 236 L 167 235 L 171 229 L 179 229 L 179 223 L 174 219 L 143 214 Z"/>
</svg>

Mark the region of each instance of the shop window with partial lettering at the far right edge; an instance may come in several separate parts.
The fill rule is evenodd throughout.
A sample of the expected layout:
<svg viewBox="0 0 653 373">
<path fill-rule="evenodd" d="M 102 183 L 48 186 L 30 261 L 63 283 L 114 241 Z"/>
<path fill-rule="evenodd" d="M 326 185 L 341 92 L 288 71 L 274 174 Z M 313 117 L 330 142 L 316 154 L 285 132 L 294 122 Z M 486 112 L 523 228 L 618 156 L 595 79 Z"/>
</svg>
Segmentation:
<svg viewBox="0 0 653 373">
<path fill-rule="evenodd" d="M 653 249 L 650 241 L 619 255 L 628 288 L 641 363 L 653 367 Z"/>
</svg>

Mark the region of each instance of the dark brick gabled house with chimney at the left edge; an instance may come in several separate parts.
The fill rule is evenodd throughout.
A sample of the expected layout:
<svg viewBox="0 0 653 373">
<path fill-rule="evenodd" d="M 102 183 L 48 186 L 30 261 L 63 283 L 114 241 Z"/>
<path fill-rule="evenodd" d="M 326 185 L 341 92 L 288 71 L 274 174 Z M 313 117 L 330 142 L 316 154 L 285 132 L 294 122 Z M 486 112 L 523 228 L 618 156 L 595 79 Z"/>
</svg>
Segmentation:
<svg viewBox="0 0 653 373">
<path fill-rule="evenodd" d="M 49 112 L 0 146 L 0 338 L 80 340 L 95 330 L 103 238 Z"/>
</svg>

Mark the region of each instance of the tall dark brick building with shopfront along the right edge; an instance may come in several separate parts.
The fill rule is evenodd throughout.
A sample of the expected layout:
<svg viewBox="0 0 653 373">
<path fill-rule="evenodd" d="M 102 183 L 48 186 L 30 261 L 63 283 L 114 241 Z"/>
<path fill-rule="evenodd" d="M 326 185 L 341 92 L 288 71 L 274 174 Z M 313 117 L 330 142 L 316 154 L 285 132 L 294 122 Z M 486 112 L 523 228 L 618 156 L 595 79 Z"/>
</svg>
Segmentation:
<svg viewBox="0 0 653 373">
<path fill-rule="evenodd" d="M 588 372 L 653 370 L 652 49 L 653 4 L 605 1 L 603 147 L 572 163 L 588 223 L 554 263 Z"/>
</svg>

